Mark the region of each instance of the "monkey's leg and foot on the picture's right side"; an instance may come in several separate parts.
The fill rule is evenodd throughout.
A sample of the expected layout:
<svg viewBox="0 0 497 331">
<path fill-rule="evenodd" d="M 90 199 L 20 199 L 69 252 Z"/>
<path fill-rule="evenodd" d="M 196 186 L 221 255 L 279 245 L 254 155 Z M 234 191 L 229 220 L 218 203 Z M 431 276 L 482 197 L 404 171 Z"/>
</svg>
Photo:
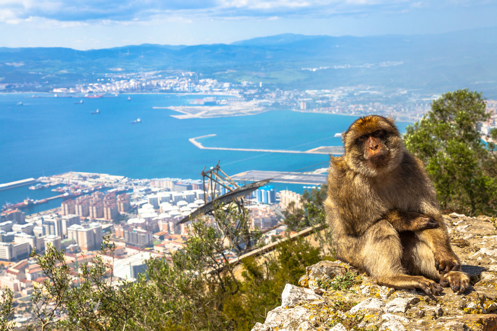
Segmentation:
<svg viewBox="0 0 497 331">
<path fill-rule="evenodd" d="M 413 275 L 423 275 L 439 281 L 442 287 L 451 287 L 454 292 L 463 293 L 469 286 L 469 277 L 464 272 L 450 271 L 441 275 L 433 264 L 434 255 L 429 246 L 414 234 L 406 231 L 400 233 L 404 247 L 402 265 Z"/>
</svg>

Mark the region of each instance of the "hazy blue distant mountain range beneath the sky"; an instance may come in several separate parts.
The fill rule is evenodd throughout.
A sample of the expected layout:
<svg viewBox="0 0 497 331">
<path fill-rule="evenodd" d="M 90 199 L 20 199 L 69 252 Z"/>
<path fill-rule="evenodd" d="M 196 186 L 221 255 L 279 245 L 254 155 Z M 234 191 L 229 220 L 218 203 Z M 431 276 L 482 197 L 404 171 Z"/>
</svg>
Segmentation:
<svg viewBox="0 0 497 331">
<path fill-rule="evenodd" d="M 280 88 L 367 84 L 441 93 L 468 87 L 497 97 L 497 27 L 431 35 L 282 34 L 232 44 L 144 44 L 78 51 L 0 48 L 0 84 L 64 86 L 116 72 L 189 70 Z M 34 85 L 32 84 L 34 83 Z"/>
</svg>

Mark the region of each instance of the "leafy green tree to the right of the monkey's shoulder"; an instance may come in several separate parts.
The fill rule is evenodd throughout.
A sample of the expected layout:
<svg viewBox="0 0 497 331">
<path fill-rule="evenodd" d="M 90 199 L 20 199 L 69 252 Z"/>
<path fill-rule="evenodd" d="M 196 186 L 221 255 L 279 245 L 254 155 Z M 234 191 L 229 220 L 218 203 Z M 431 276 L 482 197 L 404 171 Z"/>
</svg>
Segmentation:
<svg viewBox="0 0 497 331">
<path fill-rule="evenodd" d="M 434 100 L 407 128 L 405 145 L 425 164 L 445 211 L 495 214 L 495 145 L 479 130 L 489 116 L 481 93 L 457 90 Z"/>
</svg>

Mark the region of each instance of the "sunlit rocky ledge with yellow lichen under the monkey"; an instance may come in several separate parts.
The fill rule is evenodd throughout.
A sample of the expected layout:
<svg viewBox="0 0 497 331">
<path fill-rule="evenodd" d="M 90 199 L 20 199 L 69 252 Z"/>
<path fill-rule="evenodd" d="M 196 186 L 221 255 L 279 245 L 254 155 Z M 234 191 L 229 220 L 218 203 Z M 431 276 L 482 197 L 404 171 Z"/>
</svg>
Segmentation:
<svg viewBox="0 0 497 331">
<path fill-rule="evenodd" d="M 497 230 L 491 217 L 444 216 L 462 269 L 471 277 L 462 294 L 441 295 L 379 286 L 339 261 L 306 268 L 299 286 L 287 284 L 281 306 L 252 331 L 497 331 Z"/>
</svg>

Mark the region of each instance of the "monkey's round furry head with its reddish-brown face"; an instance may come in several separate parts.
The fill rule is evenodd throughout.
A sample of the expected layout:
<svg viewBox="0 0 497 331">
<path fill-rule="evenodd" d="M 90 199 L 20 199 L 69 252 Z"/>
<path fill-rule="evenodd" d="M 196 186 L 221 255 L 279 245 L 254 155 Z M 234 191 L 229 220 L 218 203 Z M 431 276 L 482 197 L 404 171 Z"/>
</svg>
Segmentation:
<svg viewBox="0 0 497 331">
<path fill-rule="evenodd" d="M 349 167 L 368 177 L 392 171 L 402 160 L 404 146 L 390 118 L 360 118 L 345 132 L 343 141 Z"/>
</svg>

